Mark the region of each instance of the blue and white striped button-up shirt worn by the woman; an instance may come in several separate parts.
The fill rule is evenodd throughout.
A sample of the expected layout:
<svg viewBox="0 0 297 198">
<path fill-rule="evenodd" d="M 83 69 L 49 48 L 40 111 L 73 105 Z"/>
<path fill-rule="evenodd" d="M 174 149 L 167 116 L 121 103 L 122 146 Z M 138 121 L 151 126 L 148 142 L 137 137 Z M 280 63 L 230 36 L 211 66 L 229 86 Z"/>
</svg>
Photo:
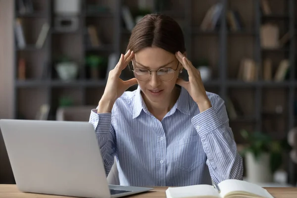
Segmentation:
<svg viewBox="0 0 297 198">
<path fill-rule="evenodd" d="M 212 107 L 199 112 L 187 90 L 162 121 L 146 107 L 140 88 L 126 91 L 110 113 L 93 109 L 106 174 L 116 156 L 120 185 L 188 186 L 243 177 L 223 99 L 207 96 Z"/>
</svg>

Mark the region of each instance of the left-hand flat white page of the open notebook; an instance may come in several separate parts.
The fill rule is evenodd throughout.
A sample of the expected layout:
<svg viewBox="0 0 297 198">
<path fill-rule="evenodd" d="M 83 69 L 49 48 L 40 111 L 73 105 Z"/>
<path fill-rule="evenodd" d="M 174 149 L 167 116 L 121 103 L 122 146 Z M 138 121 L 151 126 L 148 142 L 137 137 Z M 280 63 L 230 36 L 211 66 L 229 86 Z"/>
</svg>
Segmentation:
<svg viewBox="0 0 297 198">
<path fill-rule="evenodd" d="M 183 187 L 169 187 L 167 198 L 220 198 L 219 193 L 210 185 L 193 185 Z"/>
</svg>

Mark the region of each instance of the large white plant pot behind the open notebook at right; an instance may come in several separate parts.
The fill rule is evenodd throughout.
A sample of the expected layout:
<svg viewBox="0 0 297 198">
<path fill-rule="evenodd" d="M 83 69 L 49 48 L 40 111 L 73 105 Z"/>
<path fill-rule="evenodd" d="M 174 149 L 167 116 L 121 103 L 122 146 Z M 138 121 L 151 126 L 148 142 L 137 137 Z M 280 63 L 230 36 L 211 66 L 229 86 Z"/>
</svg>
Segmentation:
<svg viewBox="0 0 297 198">
<path fill-rule="evenodd" d="M 251 183 L 273 182 L 270 171 L 270 154 L 262 153 L 257 160 L 251 152 L 246 154 L 247 181 Z"/>
</svg>

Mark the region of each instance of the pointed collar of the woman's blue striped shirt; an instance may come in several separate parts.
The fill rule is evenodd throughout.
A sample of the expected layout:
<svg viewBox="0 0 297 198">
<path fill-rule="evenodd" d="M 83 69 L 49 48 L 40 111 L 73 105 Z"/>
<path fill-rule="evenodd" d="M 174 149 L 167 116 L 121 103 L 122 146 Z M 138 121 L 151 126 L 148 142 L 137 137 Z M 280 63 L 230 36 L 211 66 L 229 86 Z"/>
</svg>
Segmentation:
<svg viewBox="0 0 297 198">
<path fill-rule="evenodd" d="M 174 113 L 175 110 L 178 109 L 182 113 L 186 115 L 190 115 L 189 97 L 191 96 L 189 95 L 188 91 L 185 88 L 181 87 L 180 96 L 177 99 L 175 105 L 171 109 L 172 113 Z M 137 118 L 141 114 L 142 110 L 144 110 L 146 113 L 149 114 L 146 103 L 144 102 L 141 95 L 140 86 L 138 86 L 135 92 L 133 119 Z"/>
</svg>

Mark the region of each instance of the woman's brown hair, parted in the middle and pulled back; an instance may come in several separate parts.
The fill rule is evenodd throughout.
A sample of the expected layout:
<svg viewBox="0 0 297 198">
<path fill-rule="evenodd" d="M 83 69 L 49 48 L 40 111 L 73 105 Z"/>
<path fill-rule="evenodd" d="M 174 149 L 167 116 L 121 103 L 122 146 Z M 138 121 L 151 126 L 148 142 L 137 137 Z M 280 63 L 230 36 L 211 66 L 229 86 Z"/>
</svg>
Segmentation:
<svg viewBox="0 0 297 198">
<path fill-rule="evenodd" d="M 145 15 L 133 28 L 126 51 L 131 49 L 136 53 L 147 47 L 158 47 L 173 54 L 177 51 L 184 53 L 186 48 L 181 27 L 169 16 L 160 13 Z"/>
</svg>

